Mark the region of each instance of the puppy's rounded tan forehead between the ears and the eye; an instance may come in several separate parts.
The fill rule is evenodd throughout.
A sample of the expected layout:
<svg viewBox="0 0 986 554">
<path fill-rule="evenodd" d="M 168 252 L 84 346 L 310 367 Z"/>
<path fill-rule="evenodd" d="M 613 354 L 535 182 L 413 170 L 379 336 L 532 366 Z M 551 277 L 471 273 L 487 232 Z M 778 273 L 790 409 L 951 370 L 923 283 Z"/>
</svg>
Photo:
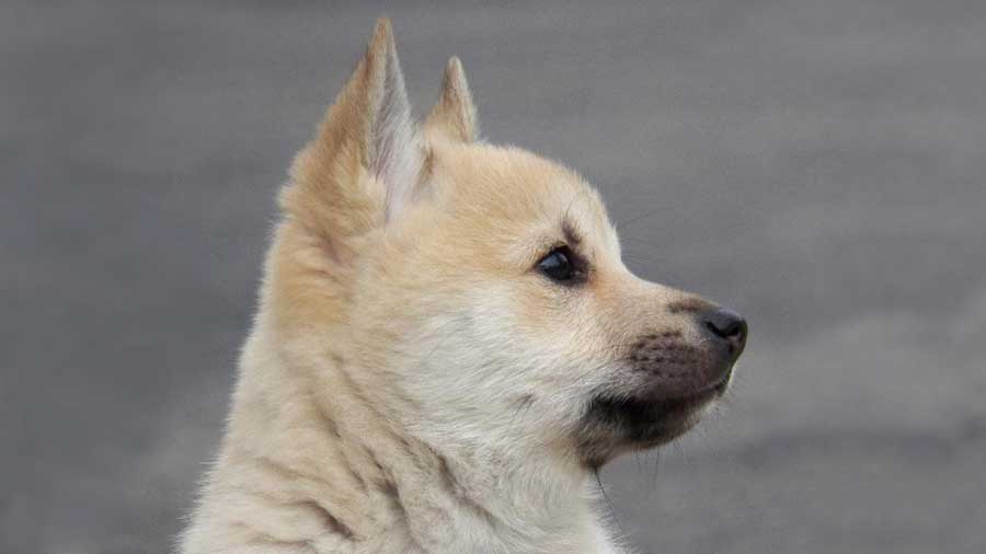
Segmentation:
<svg viewBox="0 0 986 554">
<path fill-rule="evenodd" d="M 448 207 L 470 226 L 618 247 L 598 193 L 573 171 L 530 152 L 448 145 L 435 152 L 434 173 Z"/>
</svg>

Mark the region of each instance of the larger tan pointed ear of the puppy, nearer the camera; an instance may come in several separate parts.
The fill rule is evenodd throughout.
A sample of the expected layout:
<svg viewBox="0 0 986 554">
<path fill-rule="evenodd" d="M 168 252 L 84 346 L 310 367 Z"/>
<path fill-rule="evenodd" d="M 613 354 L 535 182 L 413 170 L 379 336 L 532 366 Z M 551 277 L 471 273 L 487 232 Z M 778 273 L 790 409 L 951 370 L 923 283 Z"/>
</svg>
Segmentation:
<svg viewBox="0 0 986 554">
<path fill-rule="evenodd" d="M 295 181 L 306 189 L 295 196 L 328 204 L 337 226 L 358 232 L 352 226 L 365 228 L 378 217 L 370 205 L 382 204 L 385 221 L 400 211 L 414 194 L 422 164 L 390 21 L 381 18 L 318 136 L 295 162 Z M 362 213 L 353 212 L 358 208 Z M 347 218 L 363 222 L 347 224 Z"/>
</svg>

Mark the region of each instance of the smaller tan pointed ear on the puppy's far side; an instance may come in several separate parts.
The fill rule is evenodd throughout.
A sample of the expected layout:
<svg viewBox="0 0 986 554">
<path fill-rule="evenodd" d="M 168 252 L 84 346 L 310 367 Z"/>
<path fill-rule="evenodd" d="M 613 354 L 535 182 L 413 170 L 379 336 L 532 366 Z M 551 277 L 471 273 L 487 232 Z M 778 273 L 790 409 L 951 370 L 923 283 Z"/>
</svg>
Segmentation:
<svg viewBox="0 0 986 554">
<path fill-rule="evenodd" d="M 459 58 L 452 56 L 445 67 L 442 95 L 425 120 L 425 134 L 438 134 L 461 142 L 475 140 L 479 124 L 466 72 Z"/>
</svg>

